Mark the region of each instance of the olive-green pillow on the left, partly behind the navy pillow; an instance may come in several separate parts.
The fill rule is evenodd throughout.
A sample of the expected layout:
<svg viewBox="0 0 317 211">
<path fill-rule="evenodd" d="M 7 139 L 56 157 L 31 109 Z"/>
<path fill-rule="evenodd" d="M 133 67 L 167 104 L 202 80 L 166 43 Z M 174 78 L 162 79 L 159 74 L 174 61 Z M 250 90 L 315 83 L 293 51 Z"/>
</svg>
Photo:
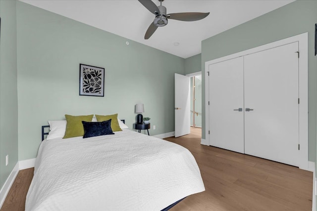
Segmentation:
<svg viewBox="0 0 317 211">
<path fill-rule="evenodd" d="M 65 114 L 67 121 L 66 131 L 63 138 L 71 138 L 84 135 L 84 126 L 81 121 L 91 122 L 94 115 L 87 116 L 71 116 Z"/>
</svg>

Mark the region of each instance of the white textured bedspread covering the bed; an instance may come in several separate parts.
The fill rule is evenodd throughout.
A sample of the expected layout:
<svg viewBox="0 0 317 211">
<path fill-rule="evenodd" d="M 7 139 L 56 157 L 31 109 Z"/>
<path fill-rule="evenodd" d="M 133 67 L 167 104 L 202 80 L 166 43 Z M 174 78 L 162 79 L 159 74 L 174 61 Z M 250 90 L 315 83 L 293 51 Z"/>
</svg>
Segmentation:
<svg viewBox="0 0 317 211">
<path fill-rule="evenodd" d="M 160 211 L 205 190 L 184 147 L 128 129 L 45 140 L 27 211 Z"/>
</svg>

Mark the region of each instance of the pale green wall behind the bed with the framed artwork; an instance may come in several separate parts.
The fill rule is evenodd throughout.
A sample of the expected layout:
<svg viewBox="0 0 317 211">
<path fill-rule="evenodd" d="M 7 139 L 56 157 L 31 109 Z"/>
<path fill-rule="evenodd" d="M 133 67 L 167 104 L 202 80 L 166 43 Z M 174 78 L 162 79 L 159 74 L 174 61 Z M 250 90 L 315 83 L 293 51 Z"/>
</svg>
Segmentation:
<svg viewBox="0 0 317 211">
<path fill-rule="evenodd" d="M 130 42 L 126 45 L 126 41 Z M 174 131 L 174 73 L 185 59 L 17 2 L 19 160 L 35 158 L 41 126 L 65 114 L 112 114 L 132 128 L 144 103 L 150 134 Z M 79 96 L 79 64 L 106 69 L 105 97 Z"/>
</svg>

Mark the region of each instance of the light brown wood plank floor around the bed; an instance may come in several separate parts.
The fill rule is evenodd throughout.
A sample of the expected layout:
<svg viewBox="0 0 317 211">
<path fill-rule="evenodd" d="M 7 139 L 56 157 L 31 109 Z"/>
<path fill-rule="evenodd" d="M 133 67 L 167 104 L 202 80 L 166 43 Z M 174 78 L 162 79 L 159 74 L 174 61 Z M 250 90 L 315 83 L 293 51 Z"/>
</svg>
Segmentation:
<svg viewBox="0 0 317 211">
<path fill-rule="evenodd" d="M 313 172 L 201 145 L 201 128 L 165 140 L 194 155 L 206 191 L 171 211 L 312 211 Z M 23 211 L 33 170 L 20 170 L 0 211 Z"/>
</svg>

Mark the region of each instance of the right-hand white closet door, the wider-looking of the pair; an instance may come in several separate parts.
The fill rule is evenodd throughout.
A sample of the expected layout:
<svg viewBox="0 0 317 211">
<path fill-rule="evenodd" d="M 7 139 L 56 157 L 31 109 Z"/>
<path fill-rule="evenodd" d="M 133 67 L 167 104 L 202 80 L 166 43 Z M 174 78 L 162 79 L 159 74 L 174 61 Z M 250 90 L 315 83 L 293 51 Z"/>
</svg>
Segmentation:
<svg viewBox="0 0 317 211">
<path fill-rule="evenodd" d="M 299 159 L 298 42 L 244 57 L 245 153 Z"/>
</svg>

